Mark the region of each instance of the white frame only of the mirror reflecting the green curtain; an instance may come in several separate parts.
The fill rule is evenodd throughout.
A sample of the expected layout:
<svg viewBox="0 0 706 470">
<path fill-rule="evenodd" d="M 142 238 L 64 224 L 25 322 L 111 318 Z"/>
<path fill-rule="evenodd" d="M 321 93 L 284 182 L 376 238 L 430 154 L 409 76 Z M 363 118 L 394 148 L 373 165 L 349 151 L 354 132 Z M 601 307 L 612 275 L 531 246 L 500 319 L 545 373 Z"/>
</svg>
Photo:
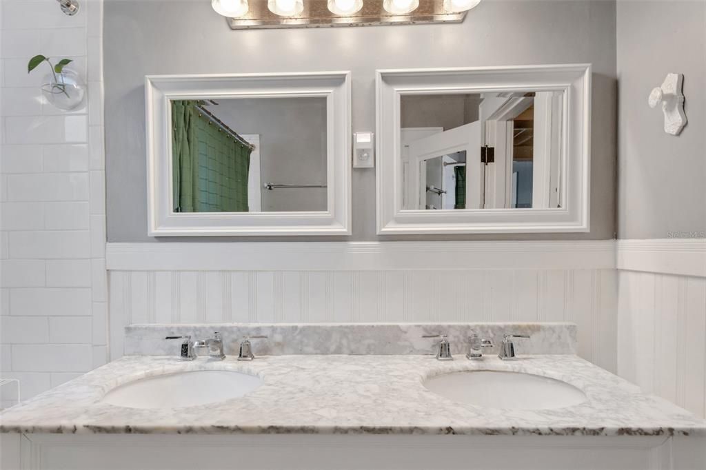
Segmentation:
<svg viewBox="0 0 706 470">
<path fill-rule="evenodd" d="M 325 97 L 327 210 L 174 212 L 170 100 Z M 350 72 L 145 76 L 150 236 L 350 235 Z"/>
</svg>

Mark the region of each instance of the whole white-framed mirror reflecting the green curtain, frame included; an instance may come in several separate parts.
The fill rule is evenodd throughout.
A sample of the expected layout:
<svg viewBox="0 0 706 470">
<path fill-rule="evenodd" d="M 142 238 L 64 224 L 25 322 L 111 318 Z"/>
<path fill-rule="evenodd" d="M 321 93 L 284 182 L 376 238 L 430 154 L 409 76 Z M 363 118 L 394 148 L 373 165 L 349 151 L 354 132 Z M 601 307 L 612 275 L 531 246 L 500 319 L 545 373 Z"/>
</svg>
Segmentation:
<svg viewBox="0 0 706 470">
<path fill-rule="evenodd" d="M 349 235 L 350 73 L 145 77 L 150 236 Z"/>
</svg>

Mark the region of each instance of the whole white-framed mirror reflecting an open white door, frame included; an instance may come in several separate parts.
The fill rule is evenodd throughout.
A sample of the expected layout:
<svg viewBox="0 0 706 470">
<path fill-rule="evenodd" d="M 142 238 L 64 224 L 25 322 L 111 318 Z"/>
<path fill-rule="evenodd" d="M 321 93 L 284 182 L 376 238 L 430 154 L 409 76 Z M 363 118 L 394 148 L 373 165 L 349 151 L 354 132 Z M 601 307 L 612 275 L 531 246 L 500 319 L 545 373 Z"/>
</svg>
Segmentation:
<svg viewBox="0 0 706 470">
<path fill-rule="evenodd" d="M 378 234 L 589 231 L 590 64 L 376 75 Z"/>
</svg>

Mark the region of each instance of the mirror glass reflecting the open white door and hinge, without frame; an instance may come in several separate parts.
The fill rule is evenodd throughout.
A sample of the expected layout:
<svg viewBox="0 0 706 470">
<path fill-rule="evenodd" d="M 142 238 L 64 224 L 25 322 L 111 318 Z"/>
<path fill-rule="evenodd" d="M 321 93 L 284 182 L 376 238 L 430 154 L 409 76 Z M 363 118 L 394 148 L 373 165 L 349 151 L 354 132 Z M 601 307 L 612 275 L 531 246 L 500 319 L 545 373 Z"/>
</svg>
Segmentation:
<svg viewBox="0 0 706 470">
<path fill-rule="evenodd" d="M 402 210 L 561 207 L 563 92 L 402 95 Z"/>
</svg>

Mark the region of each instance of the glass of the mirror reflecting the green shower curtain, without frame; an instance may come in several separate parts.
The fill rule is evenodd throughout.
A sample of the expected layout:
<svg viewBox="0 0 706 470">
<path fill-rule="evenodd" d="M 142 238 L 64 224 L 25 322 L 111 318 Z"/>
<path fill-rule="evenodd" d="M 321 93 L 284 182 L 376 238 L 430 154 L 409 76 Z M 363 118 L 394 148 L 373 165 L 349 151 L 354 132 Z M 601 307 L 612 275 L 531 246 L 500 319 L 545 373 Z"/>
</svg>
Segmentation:
<svg viewBox="0 0 706 470">
<path fill-rule="evenodd" d="M 171 105 L 174 212 L 327 210 L 325 97 Z"/>
</svg>

